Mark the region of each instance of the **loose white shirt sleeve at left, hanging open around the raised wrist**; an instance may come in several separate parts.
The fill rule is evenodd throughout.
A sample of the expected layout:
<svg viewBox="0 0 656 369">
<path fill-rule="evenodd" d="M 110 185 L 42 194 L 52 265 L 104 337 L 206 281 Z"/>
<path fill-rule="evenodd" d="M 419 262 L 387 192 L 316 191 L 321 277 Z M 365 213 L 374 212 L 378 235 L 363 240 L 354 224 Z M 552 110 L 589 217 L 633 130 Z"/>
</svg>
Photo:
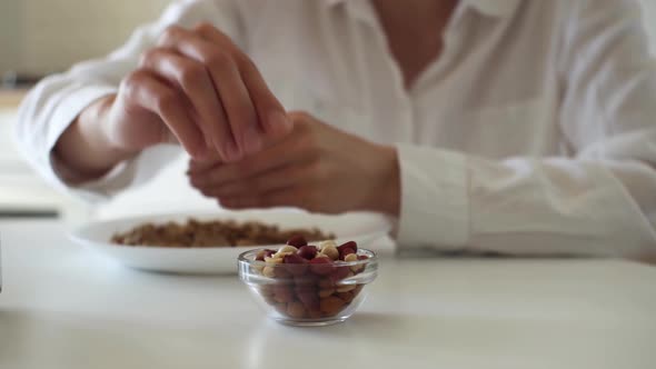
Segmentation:
<svg viewBox="0 0 656 369">
<path fill-rule="evenodd" d="M 74 188 L 63 179 L 74 177 L 74 173 L 57 162 L 51 152 L 62 132 L 86 107 L 118 91 L 122 78 L 137 67 L 141 53 L 156 43 L 167 27 L 178 24 L 189 28 L 201 21 L 215 24 L 237 44 L 241 43 L 237 1 L 175 1 L 158 21 L 137 29 L 126 44 L 108 57 L 81 62 L 66 73 L 50 76 L 39 82 L 21 103 L 16 131 L 18 147 L 32 167 L 57 188 L 76 192 L 88 200 L 102 199 L 152 178 L 158 168 L 180 153 L 179 149 L 156 147 L 145 150 L 103 178 Z"/>
</svg>

